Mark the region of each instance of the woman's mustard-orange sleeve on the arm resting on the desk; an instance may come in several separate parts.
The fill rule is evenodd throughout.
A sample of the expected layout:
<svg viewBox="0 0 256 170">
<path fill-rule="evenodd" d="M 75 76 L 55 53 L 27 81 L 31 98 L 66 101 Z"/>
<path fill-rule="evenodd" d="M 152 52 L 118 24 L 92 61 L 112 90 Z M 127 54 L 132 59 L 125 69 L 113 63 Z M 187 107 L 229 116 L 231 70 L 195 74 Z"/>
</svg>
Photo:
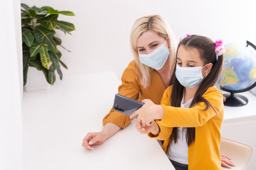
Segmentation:
<svg viewBox="0 0 256 170">
<path fill-rule="evenodd" d="M 122 96 L 127 96 L 134 100 L 139 99 L 139 79 L 137 76 L 137 67 L 136 63 L 132 61 L 129 66 L 124 70 L 122 74 L 122 84 L 118 87 L 118 94 Z M 127 125 L 131 122 L 132 119 L 128 115 L 124 115 L 117 111 L 114 111 L 113 108 L 110 110 L 110 113 L 105 115 L 103 118 L 103 126 L 106 123 L 114 123 L 119 125 L 121 128 L 126 128 Z"/>
</svg>

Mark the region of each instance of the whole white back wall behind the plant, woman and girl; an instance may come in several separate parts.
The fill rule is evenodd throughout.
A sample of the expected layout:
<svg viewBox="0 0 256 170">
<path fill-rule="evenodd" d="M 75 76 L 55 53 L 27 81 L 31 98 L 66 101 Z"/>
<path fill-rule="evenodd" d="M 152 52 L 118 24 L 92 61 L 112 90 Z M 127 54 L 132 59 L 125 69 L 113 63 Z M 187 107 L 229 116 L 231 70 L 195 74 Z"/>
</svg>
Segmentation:
<svg viewBox="0 0 256 170">
<path fill-rule="evenodd" d="M 65 75 L 113 70 L 121 77 L 133 59 L 129 44 L 132 24 L 149 14 L 166 17 L 179 39 L 185 33 L 206 35 L 213 40 L 251 40 L 256 43 L 255 2 L 174 1 L 174 0 L 21 0 L 29 6 L 53 6 L 73 11 L 76 16 L 60 16 L 75 24 L 73 36 L 58 33 L 63 45 L 72 52 L 63 53 L 68 65 Z"/>
</svg>

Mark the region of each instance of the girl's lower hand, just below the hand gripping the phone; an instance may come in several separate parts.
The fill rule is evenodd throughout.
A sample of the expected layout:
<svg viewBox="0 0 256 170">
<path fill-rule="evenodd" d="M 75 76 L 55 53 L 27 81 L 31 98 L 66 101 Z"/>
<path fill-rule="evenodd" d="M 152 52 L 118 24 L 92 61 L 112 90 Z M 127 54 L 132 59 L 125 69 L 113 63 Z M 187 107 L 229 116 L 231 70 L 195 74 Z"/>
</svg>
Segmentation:
<svg viewBox="0 0 256 170">
<path fill-rule="evenodd" d="M 137 120 L 136 128 L 138 132 L 140 132 L 141 134 L 146 134 L 149 132 L 151 132 L 155 136 L 159 134 L 159 126 L 156 124 L 155 121 L 153 121 L 151 125 L 148 126 L 148 125 L 142 125 L 142 123 L 139 122 L 139 120 Z"/>
</svg>

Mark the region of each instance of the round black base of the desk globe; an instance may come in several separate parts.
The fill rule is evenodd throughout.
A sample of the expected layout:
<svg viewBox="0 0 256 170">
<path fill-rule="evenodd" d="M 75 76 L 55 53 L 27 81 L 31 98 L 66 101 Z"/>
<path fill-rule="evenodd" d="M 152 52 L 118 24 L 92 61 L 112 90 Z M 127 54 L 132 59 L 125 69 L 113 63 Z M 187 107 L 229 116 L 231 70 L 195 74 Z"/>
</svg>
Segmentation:
<svg viewBox="0 0 256 170">
<path fill-rule="evenodd" d="M 248 103 L 248 99 L 245 96 L 234 94 L 234 92 L 231 92 L 231 94 L 223 94 L 223 96 L 226 97 L 224 102 L 225 106 L 245 106 Z"/>
</svg>

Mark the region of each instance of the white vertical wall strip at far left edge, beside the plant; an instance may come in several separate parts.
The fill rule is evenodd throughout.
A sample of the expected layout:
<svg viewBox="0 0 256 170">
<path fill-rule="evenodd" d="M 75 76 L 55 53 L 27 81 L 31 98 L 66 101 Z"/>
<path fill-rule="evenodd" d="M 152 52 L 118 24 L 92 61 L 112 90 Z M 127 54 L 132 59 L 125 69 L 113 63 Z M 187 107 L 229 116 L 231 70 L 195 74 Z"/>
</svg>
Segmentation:
<svg viewBox="0 0 256 170">
<path fill-rule="evenodd" d="M 0 6 L 0 169 L 22 169 L 21 17 L 19 0 Z"/>
</svg>

